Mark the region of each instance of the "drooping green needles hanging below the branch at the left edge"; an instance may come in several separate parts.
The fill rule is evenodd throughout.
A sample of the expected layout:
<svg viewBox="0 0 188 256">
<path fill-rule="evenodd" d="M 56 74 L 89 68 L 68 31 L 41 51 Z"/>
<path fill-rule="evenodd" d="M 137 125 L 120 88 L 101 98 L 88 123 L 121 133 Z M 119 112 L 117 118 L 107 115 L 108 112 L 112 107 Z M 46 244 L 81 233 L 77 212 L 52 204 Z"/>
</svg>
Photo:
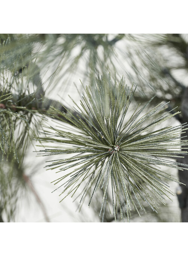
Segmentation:
<svg viewBox="0 0 188 256">
<path fill-rule="evenodd" d="M 9 222 L 14 219 L 17 202 L 21 198 L 20 193 L 25 184 L 22 160 L 28 143 L 25 137 L 29 122 L 26 116 L 16 112 L 12 103 L 12 94 L 3 90 L 1 92 L 0 213 L 3 211 Z"/>
</svg>

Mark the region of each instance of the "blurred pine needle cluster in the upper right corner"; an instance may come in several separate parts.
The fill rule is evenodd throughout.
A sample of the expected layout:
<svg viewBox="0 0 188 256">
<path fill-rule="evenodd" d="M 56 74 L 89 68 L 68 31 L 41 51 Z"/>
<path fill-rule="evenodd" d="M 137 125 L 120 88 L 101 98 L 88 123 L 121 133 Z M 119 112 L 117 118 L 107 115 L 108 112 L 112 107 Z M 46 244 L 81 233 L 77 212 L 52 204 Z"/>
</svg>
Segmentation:
<svg viewBox="0 0 188 256">
<path fill-rule="evenodd" d="M 130 34 L 127 35 L 130 47 L 121 51 L 129 60 L 126 77 L 139 84 L 135 97 L 155 102 L 171 101 L 179 106 L 183 83 L 187 77 L 186 45 L 187 34 Z"/>
</svg>

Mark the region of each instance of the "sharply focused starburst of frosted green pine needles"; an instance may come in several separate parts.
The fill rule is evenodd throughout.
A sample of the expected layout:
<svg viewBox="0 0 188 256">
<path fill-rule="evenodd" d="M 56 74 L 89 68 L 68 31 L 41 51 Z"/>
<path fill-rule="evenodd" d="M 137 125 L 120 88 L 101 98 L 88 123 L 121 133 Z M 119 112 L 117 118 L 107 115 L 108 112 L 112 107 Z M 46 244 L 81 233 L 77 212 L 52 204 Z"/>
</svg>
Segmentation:
<svg viewBox="0 0 188 256">
<path fill-rule="evenodd" d="M 188 165 L 171 159 L 187 153 L 180 151 L 182 146 L 188 145 L 188 140 L 180 140 L 180 135 L 188 129 L 187 125 L 160 126 L 157 129 L 156 126 L 174 114 L 165 111 L 167 103 L 148 111 L 152 99 L 142 108 L 138 106 L 129 117 L 135 90 L 133 86 L 130 89 L 124 86 L 123 78 L 117 84 L 115 77 L 112 84 L 109 74 L 109 85 L 104 85 L 102 77 L 98 77 L 95 88 L 86 87 L 84 91 L 77 114 L 68 109 L 64 113 L 53 108 L 68 125 L 50 127 L 46 137 L 39 138 L 41 142 L 51 143 L 42 146 L 45 150 L 40 152 L 45 156 L 73 154 L 47 161 L 52 163 L 46 167 L 51 170 L 58 168 L 57 173 L 62 173 L 53 181 L 55 185 L 60 184 L 55 190 L 64 186 L 59 196 L 67 193 L 61 201 L 69 194 L 74 196 L 80 188 L 80 202 L 89 195 L 90 205 L 92 197 L 97 196 L 96 192 L 102 188 L 99 213 L 102 218 L 108 200 L 112 202 L 115 220 L 120 214 L 123 221 L 125 217 L 129 221 L 130 211 L 136 209 L 139 214 L 143 201 L 156 211 L 158 200 L 165 204 L 165 196 L 174 195 L 166 182 L 179 182 L 159 167 L 188 170 Z"/>
</svg>

